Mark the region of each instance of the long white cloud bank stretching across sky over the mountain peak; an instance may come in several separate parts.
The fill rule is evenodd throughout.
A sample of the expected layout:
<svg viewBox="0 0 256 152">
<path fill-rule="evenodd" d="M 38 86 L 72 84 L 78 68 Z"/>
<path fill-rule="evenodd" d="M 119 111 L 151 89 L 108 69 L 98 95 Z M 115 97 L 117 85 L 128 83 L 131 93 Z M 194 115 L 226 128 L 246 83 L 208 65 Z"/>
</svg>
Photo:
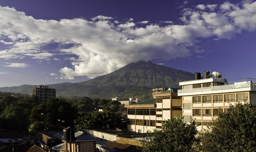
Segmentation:
<svg viewBox="0 0 256 152">
<path fill-rule="evenodd" d="M 169 60 L 198 52 L 201 39 L 231 39 L 242 32 L 256 30 L 256 2 L 221 5 L 197 5 L 184 8 L 182 24 L 162 21 L 133 22 L 107 16 L 91 19 L 37 20 L 15 8 L 0 7 L 0 58 L 59 62 L 60 55 L 72 54 L 70 66 L 62 67 L 61 79 L 74 76 L 97 77 L 128 63 L 152 59 Z M 57 44 L 55 50 L 45 49 Z M 6 67 L 29 67 L 27 63 L 10 63 Z"/>
</svg>

